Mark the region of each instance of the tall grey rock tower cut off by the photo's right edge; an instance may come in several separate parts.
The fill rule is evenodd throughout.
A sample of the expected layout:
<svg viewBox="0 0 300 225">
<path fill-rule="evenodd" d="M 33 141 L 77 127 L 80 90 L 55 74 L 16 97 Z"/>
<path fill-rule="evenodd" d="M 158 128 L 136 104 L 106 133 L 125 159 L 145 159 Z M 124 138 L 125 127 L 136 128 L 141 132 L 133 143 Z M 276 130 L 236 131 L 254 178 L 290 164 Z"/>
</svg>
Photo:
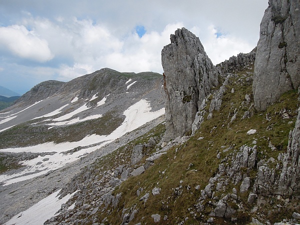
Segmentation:
<svg viewBox="0 0 300 225">
<path fill-rule="evenodd" d="M 300 83 L 300 2 L 269 0 L 260 23 L 253 74 L 257 110 L 278 100 Z"/>
</svg>

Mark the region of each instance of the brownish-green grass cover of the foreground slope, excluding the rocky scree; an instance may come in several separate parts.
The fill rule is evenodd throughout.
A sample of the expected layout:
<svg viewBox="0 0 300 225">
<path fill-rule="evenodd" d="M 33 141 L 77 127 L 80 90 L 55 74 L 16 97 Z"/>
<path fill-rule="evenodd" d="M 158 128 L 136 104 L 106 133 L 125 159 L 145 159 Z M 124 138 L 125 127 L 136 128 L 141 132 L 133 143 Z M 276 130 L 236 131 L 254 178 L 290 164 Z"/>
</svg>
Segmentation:
<svg viewBox="0 0 300 225">
<path fill-rule="evenodd" d="M 252 70 L 248 71 L 252 72 Z M 252 100 L 248 104 L 245 103 L 245 94 L 251 97 L 252 90 L 251 81 L 247 82 L 243 74 L 246 74 L 245 70 L 239 72 L 236 77 L 230 78 L 220 111 L 214 111 L 210 120 L 205 117 L 194 136 L 184 145 L 169 149 L 167 154 L 157 159 L 154 165 L 143 174 L 130 177 L 120 185 L 115 191 L 115 194 L 122 193 L 117 208 L 108 214 L 99 215 L 99 221 L 107 217 L 109 224 L 119 224 L 122 220 L 123 208 L 130 208 L 133 205 L 138 208 L 138 213 L 129 224 L 137 222 L 144 224 L 146 221 L 147 224 L 152 223 L 151 214 L 156 213 L 162 216 L 160 224 L 175 224 L 187 217 L 185 224 L 206 221 L 213 205 L 206 205 L 206 213 L 203 213 L 204 220 L 200 213 L 193 218 L 189 212 L 194 210 L 193 205 L 197 203 L 196 199 L 200 195 L 200 190 L 204 189 L 208 179 L 214 175 L 222 158 L 233 150 L 238 150 L 243 144 L 253 146 L 254 139 L 259 152 L 258 160 L 269 157 L 277 158 L 278 153 L 286 151 L 288 133 L 294 126 L 297 114 L 297 92 L 292 90 L 283 94 L 278 103 L 260 113 L 250 106 L 253 103 Z M 233 93 L 232 88 L 234 88 Z M 208 107 L 209 103 L 206 109 Z M 236 119 L 229 123 L 235 108 L 237 109 Z M 251 117 L 242 119 L 244 111 L 249 111 L 252 114 Z M 283 119 L 284 113 L 287 113 L 289 118 Z M 249 129 L 256 129 L 257 132 L 248 135 L 246 132 Z M 204 138 L 197 140 L 199 137 Z M 276 147 L 276 150 L 268 147 L 269 141 Z M 227 147 L 231 149 L 223 152 L 222 150 Z M 220 159 L 216 157 L 217 153 L 220 153 Z M 255 169 L 251 174 L 256 174 Z M 195 189 L 196 185 L 200 185 L 198 190 Z M 139 201 L 140 196 L 136 195 L 137 189 L 141 187 L 143 191 L 140 196 L 150 192 L 150 197 L 145 203 Z M 153 187 L 161 188 L 159 195 L 151 194 Z M 178 195 L 175 192 L 176 187 L 182 191 L 181 194 Z M 230 186 L 231 189 L 232 187 Z M 236 186 L 237 189 L 238 187 L 239 185 Z M 247 195 L 241 196 L 241 201 L 246 200 L 246 197 Z M 279 215 L 280 212 L 277 214 Z M 164 215 L 168 216 L 166 221 L 162 219 Z M 250 213 L 239 212 L 238 217 L 240 223 L 244 223 L 250 218 Z M 218 222 L 222 224 L 224 221 L 219 219 Z"/>
</svg>

